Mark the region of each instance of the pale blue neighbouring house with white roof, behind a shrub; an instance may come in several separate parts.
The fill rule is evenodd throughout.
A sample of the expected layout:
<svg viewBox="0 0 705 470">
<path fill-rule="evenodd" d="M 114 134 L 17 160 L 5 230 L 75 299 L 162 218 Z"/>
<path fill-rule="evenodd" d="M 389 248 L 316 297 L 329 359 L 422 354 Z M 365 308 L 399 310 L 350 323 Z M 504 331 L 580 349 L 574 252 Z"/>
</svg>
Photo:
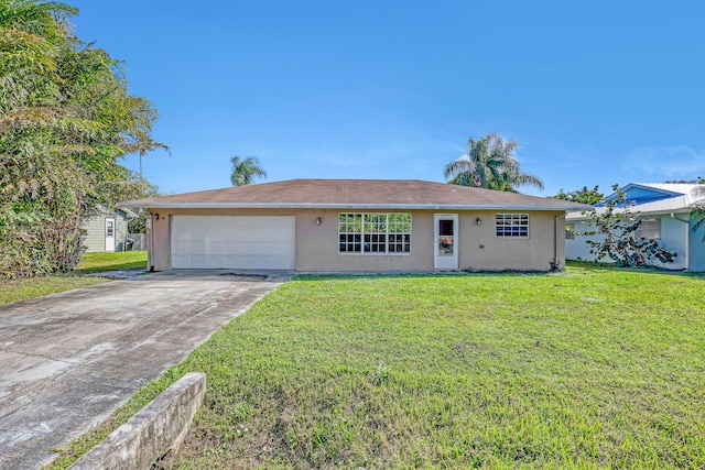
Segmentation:
<svg viewBox="0 0 705 470">
<path fill-rule="evenodd" d="M 682 183 L 631 183 L 622 188 L 629 210 L 642 219 L 637 237 L 657 240 L 659 244 L 677 253 L 673 263 L 652 264 L 669 270 L 705 271 L 705 227 L 693 231 L 691 212 L 702 201 L 703 195 L 696 184 Z M 614 200 L 614 194 L 606 198 Z M 599 207 L 597 210 L 600 210 Z M 566 217 L 565 258 L 568 260 L 596 261 L 586 240 L 599 241 L 604 236 L 581 233 L 595 231 L 595 223 L 586 214 L 570 212 Z M 600 260 L 608 262 L 609 260 Z"/>
</svg>

